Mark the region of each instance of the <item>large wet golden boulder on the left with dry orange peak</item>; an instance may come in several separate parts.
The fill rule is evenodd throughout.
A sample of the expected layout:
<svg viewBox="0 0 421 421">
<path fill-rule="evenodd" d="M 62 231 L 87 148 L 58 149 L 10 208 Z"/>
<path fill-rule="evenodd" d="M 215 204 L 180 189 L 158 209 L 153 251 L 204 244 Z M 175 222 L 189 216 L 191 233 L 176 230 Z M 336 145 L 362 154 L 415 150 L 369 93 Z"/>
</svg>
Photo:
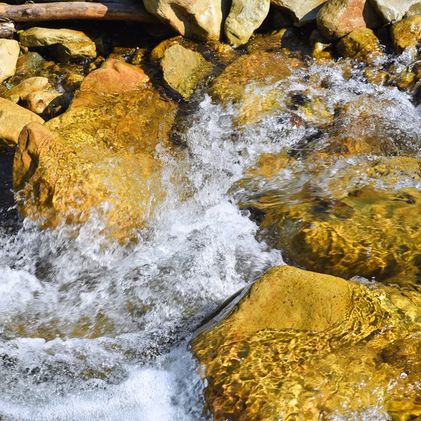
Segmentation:
<svg viewBox="0 0 421 421">
<path fill-rule="evenodd" d="M 165 195 L 154 152 L 167 144 L 175 110 L 142 69 L 104 62 L 65 114 L 22 131 L 13 175 L 22 214 L 43 226 L 96 214 L 126 238 Z"/>
</svg>

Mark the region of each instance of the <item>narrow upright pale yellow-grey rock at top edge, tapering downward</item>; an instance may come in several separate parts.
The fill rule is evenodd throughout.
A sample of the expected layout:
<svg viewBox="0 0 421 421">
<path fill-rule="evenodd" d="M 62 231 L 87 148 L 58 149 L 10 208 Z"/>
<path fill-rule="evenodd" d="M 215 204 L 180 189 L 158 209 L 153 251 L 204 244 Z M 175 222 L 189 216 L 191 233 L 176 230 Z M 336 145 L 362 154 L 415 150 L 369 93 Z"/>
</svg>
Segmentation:
<svg viewBox="0 0 421 421">
<path fill-rule="evenodd" d="M 225 36 L 236 45 L 245 44 L 269 13 L 270 0 L 233 0 L 225 20 Z"/>
</svg>

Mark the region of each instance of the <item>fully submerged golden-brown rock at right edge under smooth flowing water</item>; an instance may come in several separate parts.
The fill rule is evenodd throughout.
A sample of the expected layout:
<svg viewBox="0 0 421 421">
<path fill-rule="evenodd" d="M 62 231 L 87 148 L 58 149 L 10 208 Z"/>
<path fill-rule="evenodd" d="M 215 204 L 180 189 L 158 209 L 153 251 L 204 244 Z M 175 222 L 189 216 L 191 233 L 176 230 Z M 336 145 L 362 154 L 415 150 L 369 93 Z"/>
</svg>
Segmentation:
<svg viewBox="0 0 421 421">
<path fill-rule="evenodd" d="M 242 206 L 262 215 L 262 239 L 289 262 L 413 288 L 421 265 L 421 192 L 409 186 L 421 180 L 420 163 L 366 155 L 338 163 L 312 155 L 284 162 L 275 180 L 267 171 L 250 174 L 243 181 L 250 199 Z"/>
</svg>

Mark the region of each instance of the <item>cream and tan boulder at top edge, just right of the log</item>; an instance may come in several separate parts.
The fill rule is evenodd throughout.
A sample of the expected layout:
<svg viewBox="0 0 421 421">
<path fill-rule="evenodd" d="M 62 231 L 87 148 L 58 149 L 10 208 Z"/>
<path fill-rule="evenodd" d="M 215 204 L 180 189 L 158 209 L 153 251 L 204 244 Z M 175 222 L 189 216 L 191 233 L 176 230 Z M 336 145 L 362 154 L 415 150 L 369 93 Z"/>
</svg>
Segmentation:
<svg viewBox="0 0 421 421">
<path fill-rule="evenodd" d="M 176 32 L 198 41 L 222 39 L 228 0 L 144 0 L 145 8 Z"/>
</svg>

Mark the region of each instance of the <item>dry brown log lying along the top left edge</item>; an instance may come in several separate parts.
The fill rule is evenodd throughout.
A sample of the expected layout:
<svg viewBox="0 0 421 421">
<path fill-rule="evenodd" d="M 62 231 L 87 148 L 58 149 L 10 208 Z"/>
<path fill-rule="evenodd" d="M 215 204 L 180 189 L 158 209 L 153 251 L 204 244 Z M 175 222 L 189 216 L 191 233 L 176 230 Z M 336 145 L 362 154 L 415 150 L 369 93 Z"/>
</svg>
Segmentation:
<svg viewBox="0 0 421 421">
<path fill-rule="evenodd" d="M 13 22 L 39 22 L 42 20 L 131 20 L 135 22 L 158 22 L 149 15 L 142 4 L 128 6 L 117 3 L 88 3 L 65 1 L 60 3 L 22 4 L 0 6 L 0 20 Z"/>
</svg>

